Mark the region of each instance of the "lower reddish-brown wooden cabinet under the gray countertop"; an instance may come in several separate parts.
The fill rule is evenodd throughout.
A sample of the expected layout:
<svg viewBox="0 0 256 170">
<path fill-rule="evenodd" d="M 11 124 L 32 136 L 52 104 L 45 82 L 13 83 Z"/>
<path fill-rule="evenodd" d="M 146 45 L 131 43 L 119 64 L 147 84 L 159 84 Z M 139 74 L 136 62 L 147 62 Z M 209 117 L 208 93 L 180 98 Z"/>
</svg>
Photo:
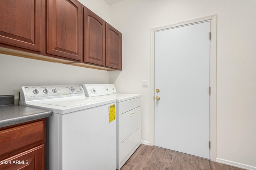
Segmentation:
<svg viewBox="0 0 256 170">
<path fill-rule="evenodd" d="M 45 121 L 0 129 L 0 170 L 45 169 Z"/>
</svg>

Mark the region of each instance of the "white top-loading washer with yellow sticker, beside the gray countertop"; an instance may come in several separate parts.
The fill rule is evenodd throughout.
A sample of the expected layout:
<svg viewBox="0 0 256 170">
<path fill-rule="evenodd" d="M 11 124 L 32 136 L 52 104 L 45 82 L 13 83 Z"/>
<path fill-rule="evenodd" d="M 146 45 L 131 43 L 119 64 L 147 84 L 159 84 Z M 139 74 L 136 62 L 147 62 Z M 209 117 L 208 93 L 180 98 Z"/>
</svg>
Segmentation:
<svg viewBox="0 0 256 170">
<path fill-rule="evenodd" d="M 81 86 L 24 86 L 20 104 L 52 111 L 49 170 L 116 170 L 116 101 L 88 98 Z"/>
</svg>

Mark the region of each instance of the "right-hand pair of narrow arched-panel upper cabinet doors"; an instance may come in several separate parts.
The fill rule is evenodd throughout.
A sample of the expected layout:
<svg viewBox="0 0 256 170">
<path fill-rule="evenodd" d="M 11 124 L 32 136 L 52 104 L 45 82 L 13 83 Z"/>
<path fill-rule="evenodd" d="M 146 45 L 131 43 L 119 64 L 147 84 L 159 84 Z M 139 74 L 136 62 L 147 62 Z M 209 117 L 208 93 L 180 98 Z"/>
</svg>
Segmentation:
<svg viewBox="0 0 256 170">
<path fill-rule="evenodd" d="M 122 34 L 84 8 L 84 62 L 122 69 Z"/>
</svg>

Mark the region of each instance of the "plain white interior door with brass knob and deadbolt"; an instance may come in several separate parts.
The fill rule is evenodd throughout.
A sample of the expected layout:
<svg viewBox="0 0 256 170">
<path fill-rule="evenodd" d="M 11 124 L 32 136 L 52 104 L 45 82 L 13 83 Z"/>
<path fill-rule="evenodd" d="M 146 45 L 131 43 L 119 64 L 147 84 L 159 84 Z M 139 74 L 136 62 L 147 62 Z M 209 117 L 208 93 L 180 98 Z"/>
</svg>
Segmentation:
<svg viewBox="0 0 256 170">
<path fill-rule="evenodd" d="M 155 32 L 155 146 L 210 158 L 210 21 Z"/>
</svg>

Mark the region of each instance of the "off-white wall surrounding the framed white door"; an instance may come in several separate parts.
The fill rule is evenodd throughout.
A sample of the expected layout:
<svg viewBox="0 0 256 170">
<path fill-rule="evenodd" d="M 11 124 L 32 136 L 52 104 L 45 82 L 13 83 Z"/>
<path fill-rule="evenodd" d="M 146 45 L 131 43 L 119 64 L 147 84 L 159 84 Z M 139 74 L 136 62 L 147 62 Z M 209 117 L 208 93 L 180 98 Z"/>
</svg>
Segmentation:
<svg viewBox="0 0 256 170">
<path fill-rule="evenodd" d="M 123 43 L 123 70 L 110 72 L 110 83 L 118 92 L 142 94 L 143 141 L 152 135 L 150 89 L 141 85 L 150 80 L 150 29 L 217 14 L 216 157 L 256 168 L 255 9 L 255 0 L 124 0 L 110 6 Z"/>
</svg>

